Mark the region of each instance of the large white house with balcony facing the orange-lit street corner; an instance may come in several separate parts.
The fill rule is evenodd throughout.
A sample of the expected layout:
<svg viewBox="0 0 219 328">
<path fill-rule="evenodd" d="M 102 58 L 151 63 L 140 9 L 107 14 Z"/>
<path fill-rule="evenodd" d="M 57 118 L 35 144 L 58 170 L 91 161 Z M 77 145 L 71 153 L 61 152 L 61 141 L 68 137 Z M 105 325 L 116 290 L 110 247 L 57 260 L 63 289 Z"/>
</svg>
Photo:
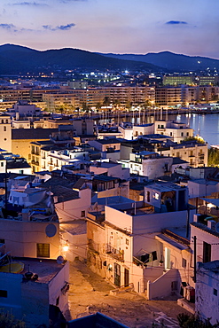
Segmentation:
<svg viewBox="0 0 219 328">
<path fill-rule="evenodd" d="M 155 189 L 154 184 L 151 186 L 152 197 Z M 160 205 L 170 196 L 175 204 L 175 207 L 166 207 L 166 212 L 161 206 L 132 201 L 106 206 L 105 219 L 101 212 L 88 214 L 90 268 L 118 287 L 146 293 L 148 299 L 167 296 L 173 290 L 179 292 L 180 283 L 185 279 L 184 275 L 181 277 L 184 252 L 186 271 L 190 269 L 189 238 L 177 236 L 176 240 L 176 232 L 174 238 L 170 234 L 163 237 L 161 231 L 186 230 L 186 223 L 192 222 L 194 209 L 188 217 L 186 188 L 176 186 L 171 190 L 168 184 L 163 192 Z"/>
</svg>

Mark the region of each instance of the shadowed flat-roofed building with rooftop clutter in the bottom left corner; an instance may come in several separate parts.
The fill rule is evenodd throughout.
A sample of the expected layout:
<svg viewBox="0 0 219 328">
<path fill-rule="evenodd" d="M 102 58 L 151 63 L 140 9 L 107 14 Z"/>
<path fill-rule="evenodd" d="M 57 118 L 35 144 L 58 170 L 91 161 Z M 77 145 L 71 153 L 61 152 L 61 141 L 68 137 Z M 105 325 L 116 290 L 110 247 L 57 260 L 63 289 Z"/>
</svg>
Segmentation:
<svg viewBox="0 0 219 328">
<path fill-rule="evenodd" d="M 29 328 L 41 325 L 47 327 L 56 322 L 53 322 L 54 318 L 59 320 L 60 315 L 65 314 L 68 308 L 68 262 L 18 258 L 11 264 L 8 262 L 3 265 L 4 260 L 5 256 L 1 256 L 2 309 L 24 320 Z M 11 273 L 5 271 L 6 266 L 11 266 Z M 58 323 L 60 324 L 59 321 Z"/>
</svg>

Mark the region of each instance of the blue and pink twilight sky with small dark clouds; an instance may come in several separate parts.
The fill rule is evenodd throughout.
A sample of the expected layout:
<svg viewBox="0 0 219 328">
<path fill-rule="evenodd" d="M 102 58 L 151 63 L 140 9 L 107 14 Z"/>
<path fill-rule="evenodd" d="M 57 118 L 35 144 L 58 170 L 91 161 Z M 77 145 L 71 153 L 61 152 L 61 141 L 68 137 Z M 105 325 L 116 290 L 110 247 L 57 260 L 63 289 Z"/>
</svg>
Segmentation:
<svg viewBox="0 0 219 328">
<path fill-rule="evenodd" d="M 219 0 L 0 0 L 0 44 L 219 59 Z"/>
</svg>

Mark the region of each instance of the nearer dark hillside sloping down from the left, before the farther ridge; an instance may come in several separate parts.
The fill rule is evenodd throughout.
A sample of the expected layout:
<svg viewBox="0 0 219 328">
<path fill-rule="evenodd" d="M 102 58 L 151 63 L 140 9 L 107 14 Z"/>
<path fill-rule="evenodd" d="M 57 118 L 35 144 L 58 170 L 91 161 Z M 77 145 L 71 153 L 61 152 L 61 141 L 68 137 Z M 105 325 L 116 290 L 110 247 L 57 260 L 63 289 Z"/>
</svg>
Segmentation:
<svg viewBox="0 0 219 328">
<path fill-rule="evenodd" d="M 90 51 L 79 49 L 59 49 L 35 51 L 27 47 L 13 44 L 0 46 L 0 74 L 20 74 L 42 72 L 45 69 L 90 69 L 90 70 L 145 70 L 160 71 L 160 67 L 152 64 L 126 59 L 113 59 Z"/>
</svg>

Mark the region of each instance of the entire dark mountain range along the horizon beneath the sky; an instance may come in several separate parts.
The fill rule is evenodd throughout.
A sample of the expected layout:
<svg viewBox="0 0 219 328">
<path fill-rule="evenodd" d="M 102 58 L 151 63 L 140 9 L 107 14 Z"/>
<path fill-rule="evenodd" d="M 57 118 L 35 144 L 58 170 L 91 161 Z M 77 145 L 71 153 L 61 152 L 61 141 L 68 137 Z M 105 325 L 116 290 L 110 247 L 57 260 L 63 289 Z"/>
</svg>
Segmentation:
<svg viewBox="0 0 219 328">
<path fill-rule="evenodd" d="M 159 53 L 114 54 L 64 48 L 36 51 L 14 44 L 0 46 L 0 74 L 37 73 L 44 70 L 126 70 L 145 72 L 189 72 L 219 70 L 219 60 L 191 57 L 169 51 Z"/>
</svg>

